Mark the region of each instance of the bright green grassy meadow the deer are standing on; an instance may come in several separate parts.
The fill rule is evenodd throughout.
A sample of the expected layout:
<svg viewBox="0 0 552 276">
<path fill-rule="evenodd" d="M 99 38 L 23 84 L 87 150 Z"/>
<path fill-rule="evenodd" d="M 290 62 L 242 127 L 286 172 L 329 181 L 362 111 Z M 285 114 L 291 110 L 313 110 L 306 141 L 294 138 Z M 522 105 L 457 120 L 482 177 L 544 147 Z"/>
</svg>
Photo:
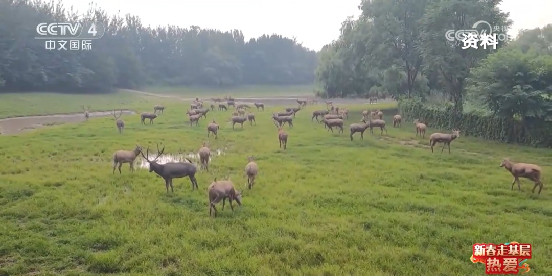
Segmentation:
<svg viewBox="0 0 552 276">
<path fill-rule="evenodd" d="M 86 101 L 77 97 L 63 96 L 60 107 L 44 112 L 61 111 L 65 98 L 71 108 Z M 97 109 L 113 104 L 92 98 Z M 43 112 L 0 99 L 1 106 L 19 105 L 19 113 Z M 120 100 L 139 110 L 159 101 Z M 432 154 L 428 138 L 437 130 L 417 138 L 412 122 L 391 126 L 391 111 L 388 136 L 374 129 L 351 142 L 348 125 L 366 106 L 349 105 L 338 134 L 310 121 L 320 105 L 285 127 L 284 151 L 270 120 L 280 107 L 254 111 L 256 126 L 232 129 L 231 111 L 209 112 L 190 127 L 187 105 L 166 104 L 155 125 L 125 116 L 123 134 L 106 117 L 0 136 L 7 164 L 0 167 L 0 275 L 484 275 L 484 266 L 469 260 L 473 243 L 511 241 L 533 245 L 529 274 L 552 274 L 551 150 L 461 136 L 452 154 L 440 154 L 440 144 Z M 213 119 L 216 140 L 206 137 Z M 157 142 L 166 154 L 187 154 L 202 140 L 224 155 L 198 173 L 199 191 L 179 178 L 167 194 L 162 178 L 146 169 L 131 173 L 128 164 L 112 174 L 116 150 L 139 144 L 155 151 Z M 222 211 L 219 204 L 219 217 L 210 218 L 207 186 L 230 177 L 246 188 L 248 155 L 259 166 L 253 190 L 244 191 L 242 207 Z M 527 180 L 521 192 L 510 190 L 511 175 L 498 167 L 505 156 L 543 167 L 540 196 Z"/>
</svg>

